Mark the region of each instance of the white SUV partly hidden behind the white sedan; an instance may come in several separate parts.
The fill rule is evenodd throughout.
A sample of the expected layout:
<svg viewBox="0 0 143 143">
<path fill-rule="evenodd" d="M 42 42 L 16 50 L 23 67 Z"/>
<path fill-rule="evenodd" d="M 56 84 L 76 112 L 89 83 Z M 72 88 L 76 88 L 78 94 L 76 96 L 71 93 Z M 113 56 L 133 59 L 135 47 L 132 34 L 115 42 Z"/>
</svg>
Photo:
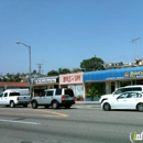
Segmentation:
<svg viewBox="0 0 143 143">
<path fill-rule="evenodd" d="M 133 85 L 133 86 L 125 86 L 125 87 L 117 88 L 116 91 L 113 91 L 112 94 L 101 96 L 99 102 L 102 103 L 103 100 L 108 100 L 109 98 L 118 97 L 120 94 L 127 92 L 127 91 L 141 91 L 141 92 L 143 92 L 143 86 L 142 85 Z"/>
</svg>

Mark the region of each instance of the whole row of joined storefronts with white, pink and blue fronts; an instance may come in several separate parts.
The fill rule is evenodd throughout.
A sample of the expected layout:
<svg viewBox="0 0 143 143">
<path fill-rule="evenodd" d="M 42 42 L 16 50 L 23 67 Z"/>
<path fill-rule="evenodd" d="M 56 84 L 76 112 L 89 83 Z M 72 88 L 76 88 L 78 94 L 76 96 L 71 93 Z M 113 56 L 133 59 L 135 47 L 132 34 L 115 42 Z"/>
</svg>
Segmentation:
<svg viewBox="0 0 143 143">
<path fill-rule="evenodd" d="M 86 101 L 89 84 L 101 85 L 105 94 L 128 85 L 143 85 L 143 67 L 65 74 L 51 77 L 38 77 L 32 80 L 33 95 L 38 96 L 50 88 L 72 88 L 75 100 Z M 103 86 L 102 86 L 103 85 Z"/>
</svg>

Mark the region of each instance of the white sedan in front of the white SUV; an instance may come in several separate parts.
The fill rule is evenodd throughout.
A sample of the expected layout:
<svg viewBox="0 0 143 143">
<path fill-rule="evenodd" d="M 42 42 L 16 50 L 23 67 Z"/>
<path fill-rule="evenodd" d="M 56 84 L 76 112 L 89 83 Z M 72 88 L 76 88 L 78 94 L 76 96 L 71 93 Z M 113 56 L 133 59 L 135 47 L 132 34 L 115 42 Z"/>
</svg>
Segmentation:
<svg viewBox="0 0 143 143">
<path fill-rule="evenodd" d="M 143 111 L 143 94 L 141 91 L 128 91 L 119 97 L 105 100 L 101 103 L 105 111 L 112 109 L 131 109 Z"/>
</svg>

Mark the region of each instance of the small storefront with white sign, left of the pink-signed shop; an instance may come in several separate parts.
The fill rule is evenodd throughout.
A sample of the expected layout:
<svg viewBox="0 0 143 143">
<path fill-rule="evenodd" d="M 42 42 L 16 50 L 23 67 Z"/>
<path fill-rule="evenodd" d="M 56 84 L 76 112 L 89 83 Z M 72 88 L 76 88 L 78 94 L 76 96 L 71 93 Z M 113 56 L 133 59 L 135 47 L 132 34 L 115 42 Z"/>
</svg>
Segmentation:
<svg viewBox="0 0 143 143">
<path fill-rule="evenodd" d="M 40 96 L 45 89 L 58 88 L 58 76 L 51 77 L 38 77 L 32 79 L 33 82 L 33 95 L 34 97 Z"/>
</svg>

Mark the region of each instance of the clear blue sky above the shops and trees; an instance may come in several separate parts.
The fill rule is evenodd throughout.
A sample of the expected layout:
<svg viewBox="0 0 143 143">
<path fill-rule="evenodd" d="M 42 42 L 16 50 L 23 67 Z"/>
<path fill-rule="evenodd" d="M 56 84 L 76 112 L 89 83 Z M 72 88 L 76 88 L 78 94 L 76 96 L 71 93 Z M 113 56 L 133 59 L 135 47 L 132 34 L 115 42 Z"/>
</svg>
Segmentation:
<svg viewBox="0 0 143 143">
<path fill-rule="evenodd" d="M 140 38 L 139 38 L 140 37 Z M 132 40 L 135 40 L 134 42 Z M 0 0 L 0 75 L 143 58 L 143 0 Z"/>
</svg>

